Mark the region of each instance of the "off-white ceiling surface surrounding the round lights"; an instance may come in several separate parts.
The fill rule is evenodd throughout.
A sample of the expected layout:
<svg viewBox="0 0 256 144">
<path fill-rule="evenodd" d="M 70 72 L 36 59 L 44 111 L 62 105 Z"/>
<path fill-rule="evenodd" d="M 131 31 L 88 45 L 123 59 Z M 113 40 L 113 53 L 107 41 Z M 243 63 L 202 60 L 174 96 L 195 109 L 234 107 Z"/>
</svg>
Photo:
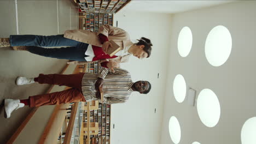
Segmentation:
<svg viewBox="0 0 256 144">
<path fill-rule="evenodd" d="M 173 143 L 168 132 L 171 116 L 176 116 L 181 124 L 180 143 L 241 143 L 243 123 L 256 116 L 255 8 L 255 1 L 240 1 L 173 15 L 162 144 Z M 207 34 L 218 25 L 229 29 L 232 51 L 226 63 L 213 67 L 206 60 L 204 46 Z M 178 54 L 177 39 L 184 26 L 190 27 L 193 33 L 193 46 L 188 57 L 182 58 Z M 204 88 L 211 88 L 216 93 L 221 110 L 216 127 L 202 124 L 196 106 L 188 106 L 187 101 L 177 103 L 174 99 L 172 85 L 177 74 L 184 76 L 197 95 Z"/>
</svg>

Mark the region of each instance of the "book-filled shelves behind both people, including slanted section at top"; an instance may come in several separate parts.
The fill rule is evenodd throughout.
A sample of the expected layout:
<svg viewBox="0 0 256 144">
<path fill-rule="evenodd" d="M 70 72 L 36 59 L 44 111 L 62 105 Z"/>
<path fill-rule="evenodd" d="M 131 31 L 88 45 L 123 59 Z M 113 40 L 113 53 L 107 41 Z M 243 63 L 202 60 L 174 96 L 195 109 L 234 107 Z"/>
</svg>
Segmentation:
<svg viewBox="0 0 256 144">
<path fill-rule="evenodd" d="M 77 0 L 79 4 L 79 29 L 98 32 L 102 25 L 113 26 L 114 14 L 131 0 Z M 85 73 L 100 73 L 98 62 L 84 64 Z M 84 130 L 80 143 L 110 144 L 111 106 L 90 101 L 84 107 Z M 92 129 L 96 129 L 92 131 Z M 90 131 L 90 132 L 89 132 Z"/>
</svg>

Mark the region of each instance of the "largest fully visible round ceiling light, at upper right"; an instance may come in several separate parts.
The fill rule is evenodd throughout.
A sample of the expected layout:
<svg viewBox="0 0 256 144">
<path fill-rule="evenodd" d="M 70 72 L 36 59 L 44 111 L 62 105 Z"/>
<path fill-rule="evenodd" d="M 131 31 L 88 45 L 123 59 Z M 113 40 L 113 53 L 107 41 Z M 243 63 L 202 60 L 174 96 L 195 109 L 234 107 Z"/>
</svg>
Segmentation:
<svg viewBox="0 0 256 144">
<path fill-rule="evenodd" d="M 205 56 L 214 67 L 219 67 L 228 60 L 232 48 L 232 38 L 228 28 L 214 27 L 207 35 Z"/>
</svg>

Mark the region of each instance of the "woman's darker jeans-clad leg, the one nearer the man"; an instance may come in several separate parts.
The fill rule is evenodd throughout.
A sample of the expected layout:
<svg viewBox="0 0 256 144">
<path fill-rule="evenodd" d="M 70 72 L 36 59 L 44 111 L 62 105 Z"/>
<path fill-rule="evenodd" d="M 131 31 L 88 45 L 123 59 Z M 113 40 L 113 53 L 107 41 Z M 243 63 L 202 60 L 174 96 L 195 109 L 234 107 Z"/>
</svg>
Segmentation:
<svg viewBox="0 0 256 144">
<path fill-rule="evenodd" d="M 83 49 L 80 47 L 61 47 L 48 49 L 39 46 L 27 46 L 26 49 L 31 53 L 44 57 L 68 59 L 72 61 L 85 61 L 84 57 L 87 47 L 83 47 Z"/>
</svg>

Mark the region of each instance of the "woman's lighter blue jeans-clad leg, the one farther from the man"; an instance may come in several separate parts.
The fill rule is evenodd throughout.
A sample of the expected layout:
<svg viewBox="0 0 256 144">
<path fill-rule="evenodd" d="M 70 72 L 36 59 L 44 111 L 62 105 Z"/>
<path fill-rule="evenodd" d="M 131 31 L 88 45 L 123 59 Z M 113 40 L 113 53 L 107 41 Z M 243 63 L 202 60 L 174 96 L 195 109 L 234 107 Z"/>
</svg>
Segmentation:
<svg viewBox="0 0 256 144">
<path fill-rule="evenodd" d="M 60 35 L 10 35 L 10 46 L 77 46 L 79 41 L 67 39 Z"/>
</svg>

